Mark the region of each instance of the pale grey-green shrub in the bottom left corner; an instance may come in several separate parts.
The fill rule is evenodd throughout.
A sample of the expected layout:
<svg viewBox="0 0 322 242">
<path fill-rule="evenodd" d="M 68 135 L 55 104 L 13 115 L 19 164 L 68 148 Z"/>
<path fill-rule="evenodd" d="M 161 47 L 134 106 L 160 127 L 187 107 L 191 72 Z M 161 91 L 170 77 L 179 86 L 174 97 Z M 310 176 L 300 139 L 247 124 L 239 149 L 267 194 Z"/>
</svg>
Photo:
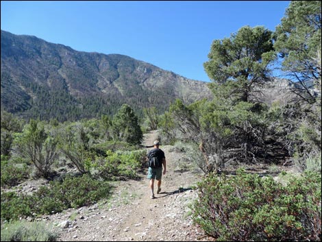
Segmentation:
<svg viewBox="0 0 322 242">
<path fill-rule="evenodd" d="M 58 233 L 42 222 L 14 221 L 1 228 L 1 241 L 56 241 Z"/>
</svg>

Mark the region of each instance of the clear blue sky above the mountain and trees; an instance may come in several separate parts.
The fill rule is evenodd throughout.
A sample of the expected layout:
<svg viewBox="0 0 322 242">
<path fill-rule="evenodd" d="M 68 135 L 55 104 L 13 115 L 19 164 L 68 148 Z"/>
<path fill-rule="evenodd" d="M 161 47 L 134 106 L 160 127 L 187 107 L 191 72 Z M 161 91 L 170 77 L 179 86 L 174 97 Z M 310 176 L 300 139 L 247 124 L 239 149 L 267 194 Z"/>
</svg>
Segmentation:
<svg viewBox="0 0 322 242">
<path fill-rule="evenodd" d="M 77 51 L 119 53 L 193 80 L 213 40 L 272 31 L 290 1 L 1 1 L 1 29 Z"/>
</svg>

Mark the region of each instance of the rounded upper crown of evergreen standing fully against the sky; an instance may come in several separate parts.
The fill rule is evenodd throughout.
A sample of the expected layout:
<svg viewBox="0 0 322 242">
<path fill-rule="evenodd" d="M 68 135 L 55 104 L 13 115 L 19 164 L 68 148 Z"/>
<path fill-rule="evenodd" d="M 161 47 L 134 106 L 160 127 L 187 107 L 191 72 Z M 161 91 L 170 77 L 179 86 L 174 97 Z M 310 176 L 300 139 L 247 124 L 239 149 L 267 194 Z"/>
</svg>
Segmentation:
<svg viewBox="0 0 322 242">
<path fill-rule="evenodd" d="M 209 60 L 203 64 L 206 73 L 216 84 L 233 84 L 230 94 L 249 101 L 253 85 L 269 77 L 267 66 L 274 56 L 272 36 L 273 32 L 264 27 L 245 26 L 230 38 L 214 40 Z"/>
</svg>

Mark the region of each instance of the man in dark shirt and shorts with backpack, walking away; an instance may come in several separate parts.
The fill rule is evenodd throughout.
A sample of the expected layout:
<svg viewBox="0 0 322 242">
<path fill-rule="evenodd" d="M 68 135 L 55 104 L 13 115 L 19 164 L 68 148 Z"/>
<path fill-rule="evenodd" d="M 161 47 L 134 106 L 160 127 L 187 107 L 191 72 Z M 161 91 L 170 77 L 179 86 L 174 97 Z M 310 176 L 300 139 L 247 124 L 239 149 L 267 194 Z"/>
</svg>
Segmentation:
<svg viewBox="0 0 322 242">
<path fill-rule="evenodd" d="M 154 141 L 153 149 L 147 154 L 147 160 L 149 162 L 149 170 L 147 178 L 150 180 L 151 198 L 154 197 L 154 180 L 158 180 L 158 190 L 156 193 L 161 191 L 161 178 L 162 178 L 162 165 L 163 175 L 166 173 L 166 157 L 162 149 L 159 149 L 160 141 Z"/>
</svg>

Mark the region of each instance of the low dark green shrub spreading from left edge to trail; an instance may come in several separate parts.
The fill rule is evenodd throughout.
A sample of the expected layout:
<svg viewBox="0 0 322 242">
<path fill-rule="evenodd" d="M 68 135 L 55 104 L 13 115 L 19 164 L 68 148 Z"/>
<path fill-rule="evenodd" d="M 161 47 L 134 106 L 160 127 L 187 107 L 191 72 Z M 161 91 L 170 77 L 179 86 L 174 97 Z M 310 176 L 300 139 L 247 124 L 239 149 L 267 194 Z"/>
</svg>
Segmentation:
<svg viewBox="0 0 322 242">
<path fill-rule="evenodd" d="M 67 177 L 63 182 L 40 186 L 32 195 L 1 193 L 1 220 L 58 213 L 66 208 L 93 204 L 110 196 L 108 182 L 93 180 L 89 175 Z"/>
</svg>

